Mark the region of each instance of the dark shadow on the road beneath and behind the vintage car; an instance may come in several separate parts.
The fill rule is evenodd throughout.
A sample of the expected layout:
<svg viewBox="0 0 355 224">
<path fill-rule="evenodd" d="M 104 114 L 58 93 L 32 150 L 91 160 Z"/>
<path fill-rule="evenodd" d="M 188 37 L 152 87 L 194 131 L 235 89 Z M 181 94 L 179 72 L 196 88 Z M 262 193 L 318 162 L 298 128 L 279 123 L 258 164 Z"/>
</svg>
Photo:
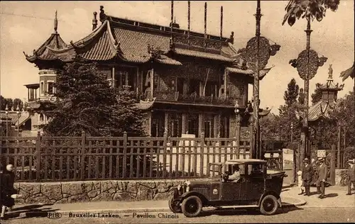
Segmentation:
<svg viewBox="0 0 355 224">
<path fill-rule="evenodd" d="M 282 214 L 282 213 L 288 213 L 290 211 L 297 211 L 297 210 L 303 210 L 303 208 L 298 208 L 297 206 L 287 204 L 287 207 L 282 207 L 279 208 L 278 211 L 275 213 L 275 215 Z M 283 205 L 284 206 L 284 205 Z M 256 209 L 234 209 L 234 210 L 223 210 L 223 209 L 217 209 L 217 210 L 212 210 L 212 211 L 202 211 L 202 213 L 199 215 L 200 217 L 206 217 L 210 215 L 263 215 L 260 213 L 260 211 Z"/>
</svg>

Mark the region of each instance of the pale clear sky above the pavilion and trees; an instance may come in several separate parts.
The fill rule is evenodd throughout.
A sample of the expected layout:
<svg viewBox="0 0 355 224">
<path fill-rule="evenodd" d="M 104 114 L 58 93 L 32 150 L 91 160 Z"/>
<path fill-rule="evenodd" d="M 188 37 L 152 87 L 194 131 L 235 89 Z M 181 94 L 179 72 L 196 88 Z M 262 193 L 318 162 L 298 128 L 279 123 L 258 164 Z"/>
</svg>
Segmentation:
<svg viewBox="0 0 355 224">
<path fill-rule="evenodd" d="M 288 1 L 261 1 L 261 35 L 270 43 L 281 45 L 280 51 L 270 58 L 271 72 L 261 81 L 261 107 L 278 107 L 284 103 L 287 84 L 295 78 L 300 88 L 303 81 L 297 69 L 288 62 L 305 50 L 305 19 L 292 27 L 282 26 Z M 26 99 L 25 84 L 39 82 L 38 68 L 29 63 L 23 52 L 32 55 L 53 33 L 55 11 L 58 11 L 58 33 L 70 43 L 92 32 L 92 13 L 104 6 L 110 16 L 169 26 L 170 1 L 0 1 L 0 94 L 6 98 Z M 245 47 L 255 35 L 256 1 L 207 1 L 207 33 L 219 35 L 220 6 L 224 8 L 223 35 L 234 31 L 234 45 Z M 180 28 L 187 29 L 187 1 L 174 1 L 174 14 Z M 100 23 L 99 23 L 100 24 Z M 191 1 L 191 30 L 204 32 L 204 1 Z M 340 72 L 354 63 L 354 0 L 341 0 L 337 12 L 327 11 L 321 22 L 312 21 L 311 48 L 320 56 L 328 57 L 310 80 L 310 95 L 317 82 L 326 82 L 329 64 L 332 64 L 334 82 L 342 83 Z M 338 97 L 349 93 L 352 79 L 344 82 Z M 252 86 L 249 87 L 249 98 Z"/>
</svg>

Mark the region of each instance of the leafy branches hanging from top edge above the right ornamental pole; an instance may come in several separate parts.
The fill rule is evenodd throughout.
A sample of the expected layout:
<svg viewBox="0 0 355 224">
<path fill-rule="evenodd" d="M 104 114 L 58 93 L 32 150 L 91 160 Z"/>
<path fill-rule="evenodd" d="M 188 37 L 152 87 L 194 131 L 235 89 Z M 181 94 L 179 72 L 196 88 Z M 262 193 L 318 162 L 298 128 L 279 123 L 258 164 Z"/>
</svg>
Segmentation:
<svg viewBox="0 0 355 224">
<path fill-rule="evenodd" d="M 312 21 L 322 21 L 327 9 L 337 11 L 340 0 L 291 0 L 285 8 L 286 14 L 283 24 L 288 21 L 288 25 L 293 26 L 296 18 L 306 18 Z"/>
</svg>

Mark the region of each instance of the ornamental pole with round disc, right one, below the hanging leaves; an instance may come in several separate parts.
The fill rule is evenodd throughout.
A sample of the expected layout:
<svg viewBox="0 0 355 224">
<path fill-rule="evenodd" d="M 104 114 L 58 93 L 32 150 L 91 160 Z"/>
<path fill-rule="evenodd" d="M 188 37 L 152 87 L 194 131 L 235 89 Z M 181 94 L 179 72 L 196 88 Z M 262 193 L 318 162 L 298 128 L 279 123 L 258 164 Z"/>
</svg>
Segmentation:
<svg viewBox="0 0 355 224">
<path fill-rule="evenodd" d="M 310 29 L 310 19 L 307 19 L 307 30 L 305 33 L 307 35 L 306 50 L 302 50 L 300 55 L 298 55 L 297 60 L 290 60 L 290 64 L 297 68 L 297 72 L 301 79 L 305 81 L 305 113 L 303 118 L 303 127 L 301 133 L 301 158 L 300 161 L 305 159 L 305 156 L 310 157 L 310 149 L 308 147 L 309 142 L 309 128 L 308 128 L 308 109 L 309 109 L 309 88 L 310 79 L 315 77 L 317 74 L 318 67 L 324 65 L 327 62 L 327 57 L 318 57 L 315 50 L 310 49 L 310 34 L 313 30 Z"/>
</svg>

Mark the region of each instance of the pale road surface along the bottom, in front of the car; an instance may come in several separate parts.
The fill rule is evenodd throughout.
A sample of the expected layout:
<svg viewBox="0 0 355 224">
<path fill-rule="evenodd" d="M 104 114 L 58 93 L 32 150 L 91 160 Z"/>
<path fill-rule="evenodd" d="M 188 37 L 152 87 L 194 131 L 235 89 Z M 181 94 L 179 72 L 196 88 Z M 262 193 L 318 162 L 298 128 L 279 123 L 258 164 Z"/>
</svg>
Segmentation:
<svg viewBox="0 0 355 224">
<path fill-rule="evenodd" d="M 281 212 L 281 211 L 280 211 Z M 165 217 L 164 215 L 175 215 L 175 217 Z M 81 213 L 85 215 L 85 213 Z M 89 215 L 89 214 L 86 214 Z M 97 215 L 97 213 L 91 213 Z M 109 215 L 109 214 L 104 214 Z M 173 213 L 148 213 L 155 218 L 138 218 L 124 217 L 119 214 L 120 218 L 69 218 L 68 215 L 63 215 L 59 219 L 49 219 L 46 217 L 38 218 L 16 218 L 11 220 L 2 220 L 1 223 L 7 224 L 112 224 L 112 223 L 355 223 L 354 208 L 288 208 L 287 211 L 277 215 L 265 216 L 250 214 L 246 211 L 234 211 L 224 213 L 204 213 L 198 218 L 185 218 L 184 215 Z M 146 213 L 139 213 L 137 215 L 146 215 Z"/>
</svg>

